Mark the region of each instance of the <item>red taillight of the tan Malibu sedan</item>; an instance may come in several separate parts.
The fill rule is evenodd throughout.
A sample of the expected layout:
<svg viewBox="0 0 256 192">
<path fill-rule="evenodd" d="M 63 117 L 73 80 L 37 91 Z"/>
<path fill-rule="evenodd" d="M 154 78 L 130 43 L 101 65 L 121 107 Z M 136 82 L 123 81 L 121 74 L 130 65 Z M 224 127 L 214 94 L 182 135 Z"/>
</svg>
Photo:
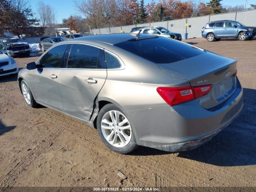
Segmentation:
<svg viewBox="0 0 256 192">
<path fill-rule="evenodd" d="M 210 92 L 212 85 L 196 87 L 158 87 L 158 94 L 170 106 L 185 103 L 202 97 Z"/>
</svg>

